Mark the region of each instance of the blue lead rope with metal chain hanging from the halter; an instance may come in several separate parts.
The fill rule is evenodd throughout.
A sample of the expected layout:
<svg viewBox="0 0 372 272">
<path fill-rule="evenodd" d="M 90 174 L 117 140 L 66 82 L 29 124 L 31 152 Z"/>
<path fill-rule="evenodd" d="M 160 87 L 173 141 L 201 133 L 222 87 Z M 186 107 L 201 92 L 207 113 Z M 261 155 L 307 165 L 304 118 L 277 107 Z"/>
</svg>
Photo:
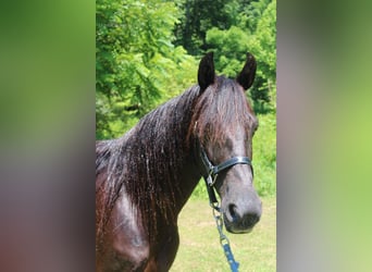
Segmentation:
<svg viewBox="0 0 372 272">
<path fill-rule="evenodd" d="M 233 251 L 230 247 L 230 240 L 227 236 L 223 233 L 223 219 L 221 214 L 219 200 L 216 200 L 214 189 L 213 187 L 210 187 L 208 185 L 207 180 L 206 180 L 206 184 L 207 184 L 210 206 L 212 207 L 213 218 L 215 220 L 215 224 L 220 234 L 220 244 L 223 248 L 223 251 L 225 252 L 225 256 L 226 256 L 226 259 L 227 259 L 227 262 L 230 264 L 232 272 L 238 272 L 239 263 L 235 261 Z"/>
</svg>

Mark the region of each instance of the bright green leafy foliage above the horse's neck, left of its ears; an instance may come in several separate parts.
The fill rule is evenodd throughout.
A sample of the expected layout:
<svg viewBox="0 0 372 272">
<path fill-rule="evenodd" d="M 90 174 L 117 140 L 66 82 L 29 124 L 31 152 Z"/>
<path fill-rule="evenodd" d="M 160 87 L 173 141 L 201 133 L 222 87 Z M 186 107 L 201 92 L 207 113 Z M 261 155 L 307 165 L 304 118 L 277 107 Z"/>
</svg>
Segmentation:
<svg viewBox="0 0 372 272">
<path fill-rule="evenodd" d="M 172 44 L 178 16 L 172 1 L 96 5 L 96 137 L 111 138 L 195 82 L 197 63 Z"/>
</svg>

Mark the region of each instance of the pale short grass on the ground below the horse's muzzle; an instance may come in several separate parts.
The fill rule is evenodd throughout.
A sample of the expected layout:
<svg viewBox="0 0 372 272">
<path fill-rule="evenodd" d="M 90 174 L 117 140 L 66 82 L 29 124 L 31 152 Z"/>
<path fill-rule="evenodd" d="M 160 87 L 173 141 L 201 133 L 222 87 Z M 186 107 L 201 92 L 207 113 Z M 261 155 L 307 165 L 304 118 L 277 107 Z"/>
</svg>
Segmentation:
<svg viewBox="0 0 372 272">
<path fill-rule="evenodd" d="M 276 199 L 264 197 L 261 221 L 249 234 L 226 233 L 239 271 L 276 271 Z M 179 248 L 172 272 L 230 271 L 208 200 L 191 198 L 179 214 Z"/>
</svg>

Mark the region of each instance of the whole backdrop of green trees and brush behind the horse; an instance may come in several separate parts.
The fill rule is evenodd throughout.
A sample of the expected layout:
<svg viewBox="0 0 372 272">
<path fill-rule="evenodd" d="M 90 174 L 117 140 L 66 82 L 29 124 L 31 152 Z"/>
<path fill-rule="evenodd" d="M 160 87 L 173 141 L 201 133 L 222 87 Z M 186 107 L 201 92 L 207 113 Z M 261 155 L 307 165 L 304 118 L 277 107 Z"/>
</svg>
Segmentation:
<svg viewBox="0 0 372 272">
<path fill-rule="evenodd" d="M 235 77 L 246 52 L 258 61 L 247 94 L 260 127 L 256 187 L 276 191 L 276 0 L 97 0 L 96 138 L 119 137 L 151 109 L 194 85 L 201 55 Z M 195 196 L 203 195 L 202 184 Z"/>
</svg>

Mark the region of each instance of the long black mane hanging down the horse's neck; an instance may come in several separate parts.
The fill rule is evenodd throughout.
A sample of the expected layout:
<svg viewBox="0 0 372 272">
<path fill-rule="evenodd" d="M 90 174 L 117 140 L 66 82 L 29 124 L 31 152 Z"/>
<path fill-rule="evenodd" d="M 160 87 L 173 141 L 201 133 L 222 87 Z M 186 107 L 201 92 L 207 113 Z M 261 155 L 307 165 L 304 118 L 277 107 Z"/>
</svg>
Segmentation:
<svg viewBox="0 0 372 272">
<path fill-rule="evenodd" d="M 99 217 L 101 232 L 122 189 L 142 211 L 142 220 L 152 221 L 151 226 L 156 227 L 157 211 L 174 219 L 175 190 L 189 152 L 186 136 L 198 94 L 196 85 L 145 115 L 121 138 L 98 141 L 96 177 L 104 170 L 109 173 L 107 182 L 96 185 L 96 194 L 101 193 L 106 202 L 104 210 L 98 211 L 104 214 Z"/>
</svg>

